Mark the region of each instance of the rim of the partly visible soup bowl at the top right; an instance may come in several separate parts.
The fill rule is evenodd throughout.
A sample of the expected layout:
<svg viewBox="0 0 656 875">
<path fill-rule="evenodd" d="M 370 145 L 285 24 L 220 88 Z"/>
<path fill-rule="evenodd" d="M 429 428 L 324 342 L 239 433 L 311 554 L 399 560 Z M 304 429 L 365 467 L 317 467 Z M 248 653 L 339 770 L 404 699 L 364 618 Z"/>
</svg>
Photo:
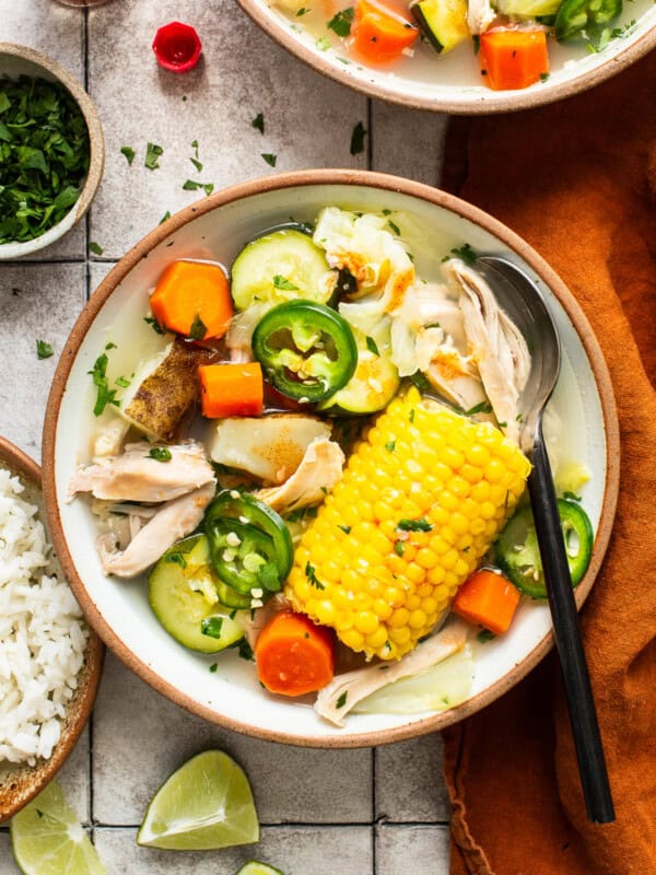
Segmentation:
<svg viewBox="0 0 656 875">
<path fill-rule="evenodd" d="M 296 39 L 294 34 L 267 14 L 260 0 L 237 0 L 244 12 L 268 34 L 279 46 L 285 48 L 296 58 L 302 60 L 321 75 L 332 79 L 353 91 L 367 97 L 378 97 L 387 103 L 406 106 L 410 109 L 427 109 L 433 113 L 448 113 L 450 115 L 495 115 L 496 113 L 514 113 L 519 109 L 531 109 L 536 106 L 553 103 L 565 97 L 572 97 L 582 91 L 587 91 L 595 85 L 610 79 L 624 68 L 634 63 L 651 49 L 656 48 L 656 25 L 642 34 L 634 43 L 623 48 L 618 55 L 609 58 L 601 67 L 588 70 L 576 79 L 550 84 L 548 88 L 524 89 L 507 97 L 495 97 L 494 101 L 475 98 L 468 103 L 445 98 L 421 97 L 410 94 L 398 94 L 385 85 L 379 85 L 371 80 L 361 82 L 350 75 L 347 68 L 330 62 L 320 51 L 306 46 Z"/>
</svg>

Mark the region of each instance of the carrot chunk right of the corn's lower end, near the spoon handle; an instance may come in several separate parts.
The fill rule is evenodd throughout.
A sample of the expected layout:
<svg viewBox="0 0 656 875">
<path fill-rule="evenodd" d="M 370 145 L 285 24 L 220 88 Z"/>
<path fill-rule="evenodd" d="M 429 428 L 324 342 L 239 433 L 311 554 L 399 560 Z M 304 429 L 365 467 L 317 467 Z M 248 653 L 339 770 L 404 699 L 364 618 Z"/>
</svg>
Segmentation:
<svg viewBox="0 0 656 875">
<path fill-rule="evenodd" d="M 519 591 L 502 574 L 481 569 L 460 586 L 452 608 L 465 620 L 499 635 L 507 631 L 519 597 Z"/>
</svg>

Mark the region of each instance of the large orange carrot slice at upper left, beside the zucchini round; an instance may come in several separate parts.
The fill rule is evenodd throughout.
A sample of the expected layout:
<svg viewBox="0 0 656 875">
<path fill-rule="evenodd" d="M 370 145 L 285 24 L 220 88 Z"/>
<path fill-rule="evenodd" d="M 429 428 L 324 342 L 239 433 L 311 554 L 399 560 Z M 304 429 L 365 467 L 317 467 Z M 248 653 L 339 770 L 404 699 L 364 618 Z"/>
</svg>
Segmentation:
<svg viewBox="0 0 656 875">
<path fill-rule="evenodd" d="M 223 337 L 233 316 L 225 273 L 219 265 L 173 261 L 150 298 L 160 325 L 195 340 Z"/>
</svg>

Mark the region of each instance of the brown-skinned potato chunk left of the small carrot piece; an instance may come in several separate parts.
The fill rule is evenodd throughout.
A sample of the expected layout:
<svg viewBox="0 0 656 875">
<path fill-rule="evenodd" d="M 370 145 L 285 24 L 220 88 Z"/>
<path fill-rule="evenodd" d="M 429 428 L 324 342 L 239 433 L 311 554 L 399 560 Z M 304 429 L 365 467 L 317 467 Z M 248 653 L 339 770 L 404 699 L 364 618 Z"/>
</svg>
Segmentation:
<svg viewBox="0 0 656 875">
<path fill-rule="evenodd" d="M 143 365 L 119 396 L 120 415 L 151 440 L 169 441 L 200 398 L 199 365 L 215 358 L 212 350 L 176 337 L 162 355 Z"/>
</svg>

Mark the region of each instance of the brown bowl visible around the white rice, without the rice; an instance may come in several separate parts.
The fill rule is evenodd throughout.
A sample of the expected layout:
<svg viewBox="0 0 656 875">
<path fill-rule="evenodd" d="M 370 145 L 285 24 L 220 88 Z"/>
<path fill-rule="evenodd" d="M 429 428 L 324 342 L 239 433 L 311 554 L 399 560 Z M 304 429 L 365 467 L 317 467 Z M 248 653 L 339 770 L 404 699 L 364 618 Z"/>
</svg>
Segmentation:
<svg viewBox="0 0 656 875">
<path fill-rule="evenodd" d="M 22 498 L 38 506 L 38 517 L 46 528 L 49 540 L 38 465 L 16 446 L 0 438 L 0 467 L 9 469 L 12 475 L 20 478 L 25 487 Z M 63 579 L 57 559 L 55 567 L 58 576 Z M 66 719 L 61 724 L 61 737 L 50 758 L 37 760 L 36 766 L 0 762 L 0 822 L 14 815 L 45 788 L 75 746 L 91 714 L 101 679 L 104 653 L 101 640 L 90 629 L 84 665 L 78 675 L 78 689 L 69 702 Z"/>
</svg>

